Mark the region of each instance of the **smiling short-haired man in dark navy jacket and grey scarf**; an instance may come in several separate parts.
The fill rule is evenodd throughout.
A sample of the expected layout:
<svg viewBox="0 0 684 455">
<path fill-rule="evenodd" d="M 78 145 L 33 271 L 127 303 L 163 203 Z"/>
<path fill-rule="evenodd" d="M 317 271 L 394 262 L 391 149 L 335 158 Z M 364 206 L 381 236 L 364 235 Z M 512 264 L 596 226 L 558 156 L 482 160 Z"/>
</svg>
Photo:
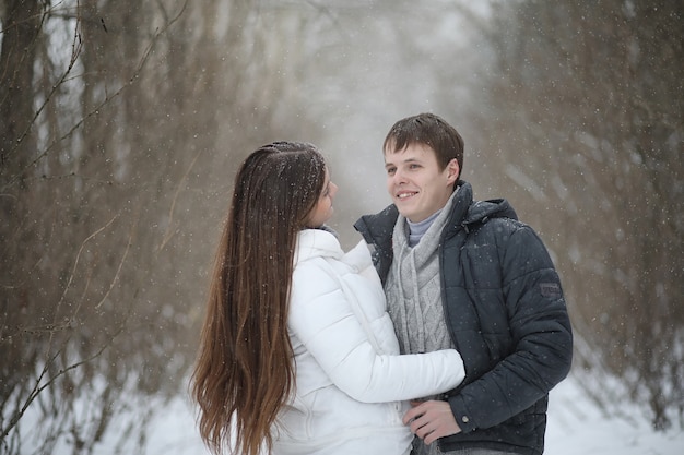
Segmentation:
<svg viewBox="0 0 684 455">
<path fill-rule="evenodd" d="M 402 354 L 455 347 L 467 373 L 404 416 L 423 440 L 414 453 L 541 454 L 549 391 L 573 355 L 544 244 L 505 200 L 473 201 L 463 140 L 441 118 L 398 121 L 382 148 L 393 204 L 354 226 L 375 248 Z"/>
</svg>

